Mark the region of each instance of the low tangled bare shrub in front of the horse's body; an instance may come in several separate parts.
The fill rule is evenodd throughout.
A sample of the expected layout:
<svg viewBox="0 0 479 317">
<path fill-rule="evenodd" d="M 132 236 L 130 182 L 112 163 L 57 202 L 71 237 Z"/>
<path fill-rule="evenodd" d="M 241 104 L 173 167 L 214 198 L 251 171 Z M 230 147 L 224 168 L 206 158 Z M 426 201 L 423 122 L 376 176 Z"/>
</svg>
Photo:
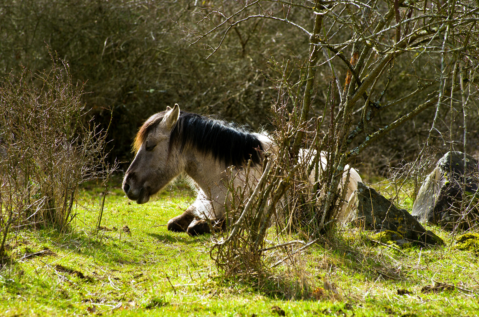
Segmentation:
<svg viewBox="0 0 479 317">
<path fill-rule="evenodd" d="M 246 180 L 241 180 L 246 186 L 238 187 L 235 185 L 238 171 L 234 168 L 228 171 L 230 196 L 225 209 L 232 229 L 227 237 L 214 238 L 210 255 L 228 278 L 254 281 L 256 287 L 267 293 L 273 292 L 273 287 L 277 296 L 309 298 L 315 283 L 304 270 L 301 255 L 320 239 L 311 235 L 315 229 L 311 222 L 320 220 L 311 215 L 321 203 L 318 184 L 325 174 L 318 172 L 321 167 L 312 152 L 292 162 L 288 146 L 303 125 L 288 120 L 287 88 L 288 85 L 278 86 L 280 97 L 273 105 L 277 130 L 270 134 L 274 147 L 264 153 L 261 178 L 250 182 L 253 176 L 248 165 Z M 316 140 L 318 136 L 313 142 Z M 308 175 L 314 169 L 316 181 L 311 183 Z M 303 228 L 312 229 L 307 233 L 301 231 Z M 298 232 L 304 240 L 291 239 Z M 285 270 L 278 271 L 279 267 Z"/>
</svg>

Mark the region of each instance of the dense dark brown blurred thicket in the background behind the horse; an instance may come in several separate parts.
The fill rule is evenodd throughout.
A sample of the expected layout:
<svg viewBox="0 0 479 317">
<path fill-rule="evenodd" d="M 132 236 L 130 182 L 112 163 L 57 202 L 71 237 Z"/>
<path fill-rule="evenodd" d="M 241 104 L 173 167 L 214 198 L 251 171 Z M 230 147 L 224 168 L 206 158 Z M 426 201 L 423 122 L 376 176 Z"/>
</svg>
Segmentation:
<svg viewBox="0 0 479 317">
<path fill-rule="evenodd" d="M 185 27 L 195 32 L 207 32 L 206 21 L 199 22 L 200 6 L 211 1 L 146 1 L 146 0 L 14 0 L 1 5 L 0 10 L 0 69 L 3 72 L 20 71 L 19 64 L 35 70 L 49 67 L 46 43 L 59 56 L 69 61 L 74 80 L 85 82 L 82 96 L 91 109 L 90 115 L 103 128 L 113 121 L 108 139 L 113 148 L 111 159 L 131 159 L 132 138 L 137 128 L 149 115 L 178 102 L 182 109 L 197 113 L 212 113 L 227 120 L 247 123 L 253 128 L 266 125 L 273 115 L 271 102 L 277 99 L 274 80 L 280 78 L 275 66 L 289 63 L 294 72 L 289 78 L 298 78 L 304 72 L 301 60 L 308 54 L 308 43 L 297 28 L 273 20 L 249 20 L 236 26 L 225 37 L 223 44 L 211 57 L 220 37 L 212 34 L 207 45 L 196 43 L 192 34 L 183 33 Z M 387 6 L 387 4 L 382 4 Z M 231 10 L 234 3 L 225 3 Z M 228 9 L 229 8 L 229 9 Z M 272 3 L 271 12 L 282 16 L 284 9 Z M 381 9 L 383 10 L 383 9 Z M 401 8 L 401 12 L 405 10 Z M 299 25 L 311 26 L 312 16 L 299 7 L 288 9 L 289 19 Z M 177 24 L 177 23 L 178 24 Z M 204 23 L 205 22 L 205 23 Z M 337 37 L 351 38 L 348 28 L 338 30 Z M 388 35 L 392 36 L 392 35 Z M 184 40 L 182 40 L 184 39 Z M 205 42 L 203 42 L 205 43 Z M 211 45 L 208 46 L 208 45 Z M 350 56 L 349 47 L 344 55 Z M 394 67 L 377 83 L 386 85 L 391 78 L 388 95 L 391 101 L 405 90 L 413 90 L 418 78 L 437 78 L 436 57 L 429 56 L 395 61 Z M 321 115 L 326 91 L 331 78 L 328 64 L 322 60 L 318 67 L 313 94 L 312 111 Z M 410 70 L 414 68 L 415 76 Z M 409 70 L 408 70 L 409 69 Z M 336 65 L 341 81 L 347 69 Z M 298 90 L 304 87 L 296 87 Z M 432 89 L 431 89 L 432 91 Z M 458 96 L 457 96 L 458 97 Z M 404 104 L 404 113 L 421 103 L 412 98 Z M 388 102 L 384 100 L 383 102 Z M 456 116 L 460 110 L 444 107 L 437 128 L 445 132 L 452 127 L 454 142 L 460 139 L 461 127 Z M 329 115 L 328 112 L 326 115 Z M 377 129 L 391 122 L 399 113 L 385 110 L 372 123 Z M 353 120 L 360 120 L 361 112 Z M 358 161 L 371 165 L 371 172 L 388 171 L 390 166 L 410 161 L 418 153 L 430 129 L 434 109 L 428 109 L 416 118 L 389 133 L 369 149 Z M 451 119 L 453 125 L 451 125 Z M 469 114 L 471 152 L 479 146 L 477 109 Z M 327 124 L 322 131 L 327 131 Z M 447 138 L 449 135 L 447 134 Z M 453 140 L 434 139 L 431 145 L 439 151 L 449 149 Z M 388 148 L 386 151 L 385 148 Z M 474 154 L 474 153 L 473 153 Z M 367 158 L 367 159 L 365 159 Z"/>
</svg>

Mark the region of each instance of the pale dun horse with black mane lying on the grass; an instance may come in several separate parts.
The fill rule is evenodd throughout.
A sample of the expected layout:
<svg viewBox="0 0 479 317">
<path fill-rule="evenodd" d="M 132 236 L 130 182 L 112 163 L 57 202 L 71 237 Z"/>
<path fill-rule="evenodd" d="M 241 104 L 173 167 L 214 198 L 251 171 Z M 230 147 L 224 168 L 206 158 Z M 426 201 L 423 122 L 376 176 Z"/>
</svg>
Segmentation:
<svg viewBox="0 0 479 317">
<path fill-rule="evenodd" d="M 137 204 L 145 204 L 151 195 L 186 173 L 197 189 L 196 199 L 181 215 L 171 218 L 167 228 L 195 236 L 210 232 L 211 227 L 226 230 L 226 183 L 231 181 L 228 167 L 237 170 L 234 186 L 244 187 L 245 167 L 251 160 L 248 180 L 254 186 L 262 174 L 262 153 L 274 149 L 274 142 L 266 133 L 184 112 L 175 104 L 146 120 L 135 137 L 133 149 L 136 155 L 122 185 L 126 196 Z M 345 172 L 340 186 L 346 177 Z M 350 169 L 349 177 L 347 199 L 357 189 L 354 180 L 361 180 L 354 169 Z"/>
</svg>

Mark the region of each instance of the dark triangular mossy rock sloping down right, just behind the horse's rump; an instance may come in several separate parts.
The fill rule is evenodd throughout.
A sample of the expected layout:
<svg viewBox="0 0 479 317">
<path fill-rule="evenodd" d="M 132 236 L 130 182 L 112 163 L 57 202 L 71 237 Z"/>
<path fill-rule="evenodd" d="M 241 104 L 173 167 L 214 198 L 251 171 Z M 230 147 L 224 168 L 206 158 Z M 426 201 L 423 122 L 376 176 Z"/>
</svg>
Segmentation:
<svg viewBox="0 0 479 317">
<path fill-rule="evenodd" d="M 402 238 L 420 245 L 444 245 L 443 239 L 424 229 L 406 209 L 399 209 L 373 188 L 358 182 L 358 189 L 349 200 L 346 213 L 354 226 L 376 232 L 394 231 Z"/>
</svg>

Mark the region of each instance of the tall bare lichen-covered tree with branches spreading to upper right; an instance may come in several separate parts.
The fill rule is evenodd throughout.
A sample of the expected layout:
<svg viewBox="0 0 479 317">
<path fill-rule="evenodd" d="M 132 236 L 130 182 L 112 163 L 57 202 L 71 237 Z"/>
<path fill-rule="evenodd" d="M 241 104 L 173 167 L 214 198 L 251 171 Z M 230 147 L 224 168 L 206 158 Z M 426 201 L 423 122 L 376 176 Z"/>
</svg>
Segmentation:
<svg viewBox="0 0 479 317">
<path fill-rule="evenodd" d="M 441 108 L 461 99 L 466 140 L 466 111 L 477 84 L 476 1 L 246 0 L 205 4 L 194 10 L 198 24 L 204 24 L 201 28 L 182 26 L 188 33 L 185 39 L 192 44 L 204 43 L 210 55 L 240 25 L 251 26 L 259 19 L 298 30 L 304 36 L 297 39 L 298 43 L 308 40 L 309 51 L 299 66 L 299 80 L 283 76 L 277 83 L 287 93 L 291 109 L 288 120 L 295 127 L 292 162 L 297 162 L 300 147 L 313 146 L 329 153 L 325 179 L 316 189 L 324 193 L 315 215 L 318 230 L 324 229 L 341 205 L 337 188 L 342 173 L 337 171 L 425 109 L 435 107 L 428 138 L 442 137 L 438 129 Z M 347 33 L 350 36 L 345 39 Z M 277 67 L 286 73 L 286 64 Z M 316 90 L 316 72 L 324 66 L 329 68 L 331 85 L 321 122 L 326 122 L 328 112 L 331 119 L 327 131 L 319 133 L 319 142 L 313 145 L 318 133 L 314 133 L 316 124 L 309 124 L 311 105 L 318 92 L 324 92 Z M 422 71 L 426 66 L 433 71 Z M 417 82 L 415 89 L 401 91 L 399 96 L 388 91 L 392 81 L 413 79 Z M 461 86 L 462 92 L 456 93 Z M 422 102 L 408 104 L 418 100 Z M 376 115 L 384 111 L 393 111 L 396 118 L 386 125 L 372 126 Z"/>
</svg>

